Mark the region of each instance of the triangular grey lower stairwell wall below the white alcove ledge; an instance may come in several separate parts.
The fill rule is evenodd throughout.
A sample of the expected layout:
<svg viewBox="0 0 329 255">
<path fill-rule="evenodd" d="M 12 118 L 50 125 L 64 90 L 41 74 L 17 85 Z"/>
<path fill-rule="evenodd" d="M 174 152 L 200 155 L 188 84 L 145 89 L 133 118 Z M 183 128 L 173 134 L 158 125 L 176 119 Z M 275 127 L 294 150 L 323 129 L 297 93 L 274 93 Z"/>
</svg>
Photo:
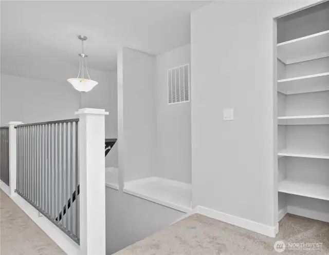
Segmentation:
<svg viewBox="0 0 329 255">
<path fill-rule="evenodd" d="M 106 254 L 162 230 L 184 212 L 106 188 Z"/>
</svg>

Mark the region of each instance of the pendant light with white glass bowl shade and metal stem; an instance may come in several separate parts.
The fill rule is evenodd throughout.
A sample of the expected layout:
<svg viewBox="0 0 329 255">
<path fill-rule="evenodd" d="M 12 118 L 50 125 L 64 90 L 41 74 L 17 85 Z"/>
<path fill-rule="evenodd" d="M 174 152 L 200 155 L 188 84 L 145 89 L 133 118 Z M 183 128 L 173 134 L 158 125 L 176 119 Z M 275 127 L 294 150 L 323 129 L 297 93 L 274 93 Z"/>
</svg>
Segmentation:
<svg viewBox="0 0 329 255">
<path fill-rule="evenodd" d="M 87 36 L 84 35 L 78 35 L 79 40 L 81 40 L 82 43 L 82 53 L 79 54 L 81 57 L 80 63 L 79 63 L 79 73 L 77 78 L 71 78 L 67 81 L 73 85 L 73 87 L 80 91 L 80 92 L 88 92 L 92 90 L 98 82 L 95 82 L 93 80 L 90 80 L 88 69 L 87 69 L 87 55 L 84 54 L 83 51 L 83 42 L 87 40 Z M 85 79 L 84 77 L 84 68 L 86 69 L 86 74 L 89 79 Z"/>
</svg>

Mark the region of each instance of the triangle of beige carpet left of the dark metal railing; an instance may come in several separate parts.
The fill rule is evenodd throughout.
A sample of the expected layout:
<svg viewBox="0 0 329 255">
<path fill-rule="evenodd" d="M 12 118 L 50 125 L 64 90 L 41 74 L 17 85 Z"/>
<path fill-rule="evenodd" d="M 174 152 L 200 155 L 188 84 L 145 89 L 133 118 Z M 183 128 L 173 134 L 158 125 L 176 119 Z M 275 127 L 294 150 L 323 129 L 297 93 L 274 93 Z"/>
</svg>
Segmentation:
<svg viewBox="0 0 329 255">
<path fill-rule="evenodd" d="M 0 254 L 66 254 L 0 190 Z"/>
</svg>

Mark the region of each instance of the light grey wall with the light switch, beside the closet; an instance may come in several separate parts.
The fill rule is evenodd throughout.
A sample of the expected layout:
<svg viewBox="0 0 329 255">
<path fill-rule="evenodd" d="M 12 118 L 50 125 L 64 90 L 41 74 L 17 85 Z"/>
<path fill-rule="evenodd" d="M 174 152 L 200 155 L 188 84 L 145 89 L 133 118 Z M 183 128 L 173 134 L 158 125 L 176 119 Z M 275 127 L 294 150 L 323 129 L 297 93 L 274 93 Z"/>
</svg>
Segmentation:
<svg viewBox="0 0 329 255">
<path fill-rule="evenodd" d="M 191 14 L 193 206 L 277 226 L 273 18 L 315 2 L 217 1 Z"/>
</svg>

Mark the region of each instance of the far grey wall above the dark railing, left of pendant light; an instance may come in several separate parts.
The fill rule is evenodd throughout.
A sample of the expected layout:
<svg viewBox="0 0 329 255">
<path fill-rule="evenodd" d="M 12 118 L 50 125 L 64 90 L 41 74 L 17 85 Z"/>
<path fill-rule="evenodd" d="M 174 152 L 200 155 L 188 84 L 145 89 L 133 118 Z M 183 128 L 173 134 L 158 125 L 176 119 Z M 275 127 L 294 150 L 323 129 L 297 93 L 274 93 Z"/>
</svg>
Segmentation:
<svg viewBox="0 0 329 255">
<path fill-rule="evenodd" d="M 74 119 L 80 93 L 68 82 L 1 75 L 1 125 Z"/>
</svg>

